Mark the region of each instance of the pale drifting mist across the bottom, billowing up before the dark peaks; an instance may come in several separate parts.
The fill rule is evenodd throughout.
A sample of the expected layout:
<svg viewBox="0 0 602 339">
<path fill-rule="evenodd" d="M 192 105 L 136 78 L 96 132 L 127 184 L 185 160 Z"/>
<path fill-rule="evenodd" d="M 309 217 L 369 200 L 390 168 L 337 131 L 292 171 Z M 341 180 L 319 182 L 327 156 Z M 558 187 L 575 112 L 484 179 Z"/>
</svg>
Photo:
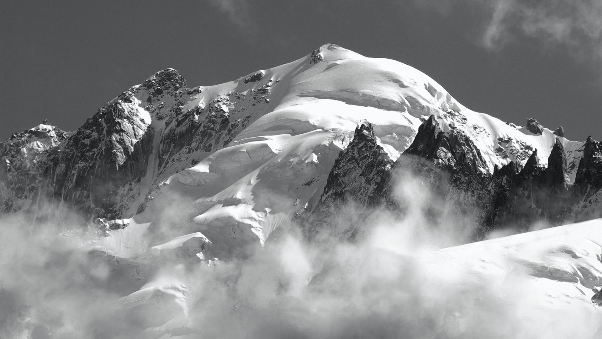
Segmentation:
<svg viewBox="0 0 602 339">
<path fill-rule="evenodd" d="M 450 262 L 468 242 L 458 215 L 418 179 L 400 180 L 400 217 L 375 209 L 341 241 L 353 204 L 307 241 L 303 224 L 244 255 L 120 259 L 90 251 L 95 229 L 0 222 L 2 338 L 595 338 L 593 305 L 549 308 L 526 267 L 486 256 Z M 433 206 L 436 205 L 436 206 Z M 170 209 L 174 209 L 176 206 Z M 433 220 L 429 211 L 444 217 Z M 166 211 L 176 213 L 176 211 Z M 164 212 L 164 213 L 166 213 Z M 210 251 L 208 253 L 211 253 Z M 478 256 L 478 257 L 477 257 Z M 553 311 L 551 311 L 551 309 Z"/>
</svg>

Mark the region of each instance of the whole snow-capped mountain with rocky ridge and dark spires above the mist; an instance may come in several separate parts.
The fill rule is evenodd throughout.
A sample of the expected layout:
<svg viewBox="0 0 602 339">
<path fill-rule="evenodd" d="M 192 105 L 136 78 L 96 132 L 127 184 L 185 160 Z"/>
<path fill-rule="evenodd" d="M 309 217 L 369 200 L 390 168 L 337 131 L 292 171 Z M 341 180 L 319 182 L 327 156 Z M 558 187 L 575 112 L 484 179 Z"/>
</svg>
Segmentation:
<svg viewBox="0 0 602 339">
<path fill-rule="evenodd" d="M 95 233 L 83 241 L 90 253 L 137 267 L 122 273 L 142 280 L 150 277 L 140 267 L 153 261 L 212 266 L 244 258 L 291 222 L 310 242 L 329 227 L 329 236 L 361 242 L 382 213 L 403 221 L 418 206 L 424 225 L 469 225 L 438 244 L 448 246 L 507 227 L 524 232 L 541 221 L 600 217 L 602 144 L 526 122 L 473 112 L 411 66 L 332 44 L 215 86 L 188 88 L 165 69 L 76 131 L 45 123 L 3 142 L 2 213 L 74 229 L 87 224 Z M 598 223 L 586 225 L 583 236 L 591 238 Z M 550 232 L 561 231 L 537 236 Z M 562 247 L 557 240 L 544 242 Z M 490 243 L 479 244 L 444 253 L 480 256 Z M 589 303 L 594 293 L 586 290 L 602 285 L 600 262 L 591 260 L 600 251 L 584 248 L 553 250 L 580 264 L 563 256 L 562 279 L 552 280 L 575 285 L 561 289 L 578 290 Z M 531 276 L 547 274 L 547 261 L 516 260 Z M 185 288 L 151 280 L 130 291 L 125 305 L 162 291 L 193 307 Z"/>
</svg>

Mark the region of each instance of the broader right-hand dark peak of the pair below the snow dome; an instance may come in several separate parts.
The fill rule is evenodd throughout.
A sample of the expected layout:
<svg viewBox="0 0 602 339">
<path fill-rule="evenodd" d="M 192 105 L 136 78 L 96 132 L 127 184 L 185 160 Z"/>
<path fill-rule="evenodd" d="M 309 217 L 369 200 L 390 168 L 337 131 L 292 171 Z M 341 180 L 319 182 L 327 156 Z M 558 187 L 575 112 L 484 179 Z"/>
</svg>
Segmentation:
<svg viewBox="0 0 602 339">
<path fill-rule="evenodd" d="M 402 215 L 415 212 L 407 211 L 416 208 L 412 197 L 396 194 L 396 188 L 408 180 L 418 180 L 421 189 L 426 188 L 429 194 L 429 202 L 420 206 L 426 220 L 437 225 L 454 218 L 473 227 L 482 223 L 484 211 L 488 210 L 490 199 L 485 169 L 482 154 L 463 131 L 453 129 L 444 133 L 435 116 L 430 116 L 388 174 L 389 206 Z"/>
</svg>

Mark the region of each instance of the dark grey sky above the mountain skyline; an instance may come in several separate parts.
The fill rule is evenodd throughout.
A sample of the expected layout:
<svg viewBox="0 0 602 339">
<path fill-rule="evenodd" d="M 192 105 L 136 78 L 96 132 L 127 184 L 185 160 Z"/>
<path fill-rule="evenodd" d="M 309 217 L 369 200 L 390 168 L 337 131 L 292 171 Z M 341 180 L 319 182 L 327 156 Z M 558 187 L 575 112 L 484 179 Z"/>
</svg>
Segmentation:
<svg viewBox="0 0 602 339">
<path fill-rule="evenodd" d="M 414 66 L 478 112 L 601 139 L 600 17 L 600 0 L 7 1 L 0 139 L 43 119 L 75 130 L 167 67 L 209 86 L 324 43 Z"/>
</svg>

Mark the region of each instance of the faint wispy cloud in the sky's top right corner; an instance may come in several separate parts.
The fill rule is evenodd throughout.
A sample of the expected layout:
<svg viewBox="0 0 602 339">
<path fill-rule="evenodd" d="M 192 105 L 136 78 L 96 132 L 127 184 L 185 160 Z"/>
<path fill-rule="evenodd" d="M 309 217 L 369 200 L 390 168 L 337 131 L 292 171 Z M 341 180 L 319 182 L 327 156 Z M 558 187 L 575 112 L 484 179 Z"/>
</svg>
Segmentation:
<svg viewBox="0 0 602 339">
<path fill-rule="evenodd" d="M 444 10 L 439 1 L 416 1 L 449 16 L 470 7 L 480 24 L 478 43 L 489 50 L 527 37 L 582 61 L 602 60 L 602 0 L 454 0 Z"/>
</svg>

